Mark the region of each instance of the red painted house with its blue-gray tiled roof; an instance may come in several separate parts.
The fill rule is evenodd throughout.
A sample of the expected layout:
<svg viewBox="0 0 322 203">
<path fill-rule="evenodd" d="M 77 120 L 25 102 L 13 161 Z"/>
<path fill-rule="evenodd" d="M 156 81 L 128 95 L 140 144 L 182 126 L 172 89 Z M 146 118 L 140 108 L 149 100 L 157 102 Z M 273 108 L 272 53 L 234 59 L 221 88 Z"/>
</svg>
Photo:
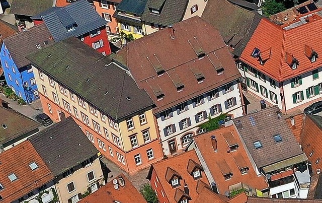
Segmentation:
<svg viewBox="0 0 322 203">
<path fill-rule="evenodd" d="M 45 23 L 56 42 L 74 36 L 103 55 L 111 53 L 106 20 L 86 0 L 65 7 L 52 7 L 32 19 L 36 25 Z"/>
</svg>

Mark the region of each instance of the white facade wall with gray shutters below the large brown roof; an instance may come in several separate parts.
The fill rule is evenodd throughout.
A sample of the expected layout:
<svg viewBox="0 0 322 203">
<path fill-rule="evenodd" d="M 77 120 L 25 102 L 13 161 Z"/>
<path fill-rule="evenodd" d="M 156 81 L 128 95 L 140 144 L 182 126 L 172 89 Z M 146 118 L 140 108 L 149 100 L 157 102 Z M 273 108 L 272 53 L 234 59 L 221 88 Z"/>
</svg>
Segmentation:
<svg viewBox="0 0 322 203">
<path fill-rule="evenodd" d="M 224 102 L 229 99 L 235 97 L 236 98 L 236 105 L 229 108 L 229 109 L 225 109 L 225 105 Z M 228 114 L 232 114 L 233 117 L 239 117 L 243 115 L 243 108 L 241 106 L 241 99 L 240 99 L 240 94 L 239 94 L 239 89 L 238 89 L 238 84 L 236 82 L 233 83 L 233 90 L 231 90 L 230 92 L 226 93 L 226 94 L 222 94 L 221 88 L 219 88 L 219 97 L 212 99 L 210 101 L 208 101 L 206 94 L 204 95 L 204 103 L 193 107 L 192 104 L 192 100 L 188 101 L 188 107 L 189 110 L 184 111 L 182 113 L 180 113 L 178 115 L 177 111 L 176 111 L 176 107 L 172 108 L 173 111 L 173 117 L 170 117 L 168 119 L 165 119 L 162 121 L 160 114 L 156 115 L 156 121 L 157 121 L 157 125 L 159 127 L 159 131 L 160 131 L 160 139 L 162 141 L 162 145 L 163 145 L 163 149 L 164 149 L 164 153 L 165 155 L 170 154 L 170 150 L 169 150 L 169 145 L 168 145 L 168 141 L 172 140 L 172 139 L 176 139 L 177 142 L 177 150 L 182 149 L 185 146 L 182 146 L 181 144 L 181 137 L 184 134 L 187 134 L 188 132 L 192 132 L 195 134 L 197 134 L 197 130 L 198 130 L 198 125 L 200 125 L 203 122 L 206 122 L 208 119 L 205 119 L 203 121 L 200 121 L 198 123 L 196 123 L 195 120 L 195 115 L 201 111 L 207 111 L 207 115 L 210 114 L 210 108 L 216 104 L 221 104 L 221 108 L 222 108 L 222 112 L 223 113 L 228 113 Z M 213 117 L 216 117 L 220 115 L 220 113 L 215 114 Z M 180 130 L 179 128 L 179 122 L 182 119 L 188 118 L 190 117 L 191 120 L 191 126 L 184 128 L 182 130 Z M 167 127 L 168 125 L 171 124 L 175 124 L 176 125 L 176 132 L 165 137 L 164 134 L 164 128 Z"/>
</svg>

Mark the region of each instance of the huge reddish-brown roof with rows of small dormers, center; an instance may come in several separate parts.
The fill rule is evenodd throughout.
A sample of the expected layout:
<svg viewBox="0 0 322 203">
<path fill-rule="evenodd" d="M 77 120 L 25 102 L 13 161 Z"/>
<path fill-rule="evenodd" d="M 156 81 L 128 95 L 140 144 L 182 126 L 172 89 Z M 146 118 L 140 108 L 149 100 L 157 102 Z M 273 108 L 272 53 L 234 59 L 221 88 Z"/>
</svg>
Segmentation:
<svg viewBox="0 0 322 203">
<path fill-rule="evenodd" d="M 138 86 L 150 95 L 156 104 L 155 113 L 240 77 L 219 32 L 210 24 L 193 17 L 175 24 L 173 29 L 174 39 L 169 34 L 171 28 L 166 28 L 127 43 L 116 57 L 129 67 Z M 200 51 L 205 53 L 202 59 L 198 59 L 196 54 Z M 218 76 L 216 69 L 219 65 L 223 66 L 224 71 Z M 165 73 L 157 76 L 158 69 L 163 69 Z M 198 84 L 195 69 L 205 77 L 204 82 Z M 180 92 L 174 85 L 177 83 L 174 81 L 179 80 L 184 85 Z M 158 100 L 156 95 L 161 93 L 165 96 Z"/>
</svg>

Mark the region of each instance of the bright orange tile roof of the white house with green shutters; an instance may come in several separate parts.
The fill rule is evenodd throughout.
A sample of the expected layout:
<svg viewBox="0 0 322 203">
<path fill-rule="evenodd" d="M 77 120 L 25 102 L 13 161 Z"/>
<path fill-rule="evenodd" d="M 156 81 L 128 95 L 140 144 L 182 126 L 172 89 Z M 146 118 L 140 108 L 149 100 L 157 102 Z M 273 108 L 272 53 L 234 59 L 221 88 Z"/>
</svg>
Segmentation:
<svg viewBox="0 0 322 203">
<path fill-rule="evenodd" d="M 318 58 L 315 62 L 311 62 L 305 55 L 305 47 L 308 46 L 322 55 L 322 35 L 320 35 L 322 18 L 319 15 L 310 17 L 309 22 L 302 16 L 302 25 L 297 27 L 299 21 L 280 27 L 263 18 L 241 53 L 240 59 L 278 82 L 317 69 L 322 65 L 322 60 Z M 294 28 L 291 28 L 292 26 Z M 271 49 L 270 57 L 263 65 L 258 58 L 252 56 L 255 48 L 258 48 L 261 56 L 263 54 L 265 58 L 267 58 L 265 51 Z M 289 65 L 292 60 L 299 63 L 295 70 Z"/>
</svg>

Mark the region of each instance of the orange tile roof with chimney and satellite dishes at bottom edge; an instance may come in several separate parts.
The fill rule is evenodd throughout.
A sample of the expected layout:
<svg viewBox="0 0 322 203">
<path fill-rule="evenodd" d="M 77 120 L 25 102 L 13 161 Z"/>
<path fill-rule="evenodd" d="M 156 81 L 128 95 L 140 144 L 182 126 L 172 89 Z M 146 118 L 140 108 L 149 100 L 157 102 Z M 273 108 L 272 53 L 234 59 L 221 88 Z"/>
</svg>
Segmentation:
<svg viewBox="0 0 322 203">
<path fill-rule="evenodd" d="M 125 175 L 120 174 L 125 182 L 124 187 L 119 185 L 118 189 L 114 188 L 113 181 L 108 182 L 106 185 L 88 195 L 87 197 L 79 200 L 79 203 L 115 203 L 115 202 L 146 202 L 143 196 L 135 189 L 131 181 Z M 116 179 L 118 179 L 116 176 Z"/>
</svg>

